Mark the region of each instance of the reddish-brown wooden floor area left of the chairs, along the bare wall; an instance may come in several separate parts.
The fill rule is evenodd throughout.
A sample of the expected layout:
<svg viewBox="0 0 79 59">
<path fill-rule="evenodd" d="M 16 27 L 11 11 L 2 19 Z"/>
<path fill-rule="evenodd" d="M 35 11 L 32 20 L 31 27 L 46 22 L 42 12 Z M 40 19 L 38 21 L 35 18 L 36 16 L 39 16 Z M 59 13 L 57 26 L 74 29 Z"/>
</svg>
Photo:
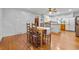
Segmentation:
<svg viewBox="0 0 79 59">
<path fill-rule="evenodd" d="M 2 38 L 0 42 L 1 50 L 28 50 L 26 34 L 13 35 Z"/>
</svg>

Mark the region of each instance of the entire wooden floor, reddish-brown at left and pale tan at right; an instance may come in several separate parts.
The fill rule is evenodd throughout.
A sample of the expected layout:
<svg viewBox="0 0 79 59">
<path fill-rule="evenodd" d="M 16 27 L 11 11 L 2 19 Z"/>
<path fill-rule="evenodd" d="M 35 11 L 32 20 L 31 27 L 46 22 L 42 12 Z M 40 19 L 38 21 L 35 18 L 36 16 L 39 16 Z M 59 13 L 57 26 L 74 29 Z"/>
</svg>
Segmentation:
<svg viewBox="0 0 79 59">
<path fill-rule="evenodd" d="M 1 50 L 47 50 L 48 46 L 42 48 L 28 47 L 26 34 L 19 34 L 4 37 L 0 42 Z M 63 31 L 61 33 L 51 34 L 51 50 L 78 50 L 79 37 L 75 32 Z"/>
</svg>

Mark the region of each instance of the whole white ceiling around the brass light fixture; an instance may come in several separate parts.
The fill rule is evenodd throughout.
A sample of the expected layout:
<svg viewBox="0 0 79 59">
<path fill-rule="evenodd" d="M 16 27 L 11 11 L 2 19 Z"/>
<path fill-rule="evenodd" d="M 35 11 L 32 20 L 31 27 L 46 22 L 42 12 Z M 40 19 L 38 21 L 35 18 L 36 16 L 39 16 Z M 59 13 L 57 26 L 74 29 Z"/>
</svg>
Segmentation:
<svg viewBox="0 0 79 59">
<path fill-rule="evenodd" d="M 14 8 L 15 9 L 15 8 Z M 16 8 L 19 10 L 31 12 L 36 15 L 48 15 L 48 8 Z M 56 8 L 57 12 L 53 13 L 53 15 L 63 15 L 67 13 L 79 12 L 79 8 Z"/>
</svg>

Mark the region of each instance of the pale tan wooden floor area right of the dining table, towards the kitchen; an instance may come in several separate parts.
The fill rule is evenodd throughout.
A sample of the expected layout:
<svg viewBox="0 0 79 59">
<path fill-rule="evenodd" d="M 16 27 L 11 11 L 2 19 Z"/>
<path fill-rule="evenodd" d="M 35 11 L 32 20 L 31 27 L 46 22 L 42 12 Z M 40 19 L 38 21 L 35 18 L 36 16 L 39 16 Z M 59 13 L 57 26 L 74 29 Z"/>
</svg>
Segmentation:
<svg viewBox="0 0 79 59">
<path fill-rule="evenodd" d="M 75 32 L 63 31 L 51 36 L 52 50 L 78 50 L 79 37 L 75 36 Z"/>
</svg>

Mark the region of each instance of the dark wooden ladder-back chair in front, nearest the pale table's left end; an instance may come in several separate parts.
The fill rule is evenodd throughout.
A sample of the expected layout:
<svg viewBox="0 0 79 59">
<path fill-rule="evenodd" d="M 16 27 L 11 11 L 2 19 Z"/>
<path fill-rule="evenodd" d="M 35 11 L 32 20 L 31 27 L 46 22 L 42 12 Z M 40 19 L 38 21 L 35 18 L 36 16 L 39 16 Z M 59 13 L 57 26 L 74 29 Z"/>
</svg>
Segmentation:
<svg viewBox="0 0 79 59">
<path fill-rule="evenodd" d="M 40 47 L 40 33 L 37 30 L 37 26 L 32 24 L 32 41 L 34 47 Z"/>
</svg>

